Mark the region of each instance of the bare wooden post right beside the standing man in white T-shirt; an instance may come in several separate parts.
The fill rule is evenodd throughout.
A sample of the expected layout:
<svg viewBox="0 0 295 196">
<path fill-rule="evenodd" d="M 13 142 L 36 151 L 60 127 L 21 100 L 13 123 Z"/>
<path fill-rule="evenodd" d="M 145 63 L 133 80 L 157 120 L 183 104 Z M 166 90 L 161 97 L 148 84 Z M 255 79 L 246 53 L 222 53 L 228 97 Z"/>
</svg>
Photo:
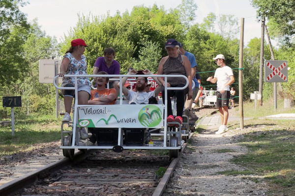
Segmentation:
<svg viewBox="0 0 295 196">
<path fill-rule="evenodd" d="M 240 48 L 239 48 L 239 63 L 238 63 L 238 97 L 240 111 L 240 129 L 244 129 L 244 108 L 243 108 L 243 49 L 244 49 L 244 18 L 241 18 L 240 32 Z"/>
</svg>

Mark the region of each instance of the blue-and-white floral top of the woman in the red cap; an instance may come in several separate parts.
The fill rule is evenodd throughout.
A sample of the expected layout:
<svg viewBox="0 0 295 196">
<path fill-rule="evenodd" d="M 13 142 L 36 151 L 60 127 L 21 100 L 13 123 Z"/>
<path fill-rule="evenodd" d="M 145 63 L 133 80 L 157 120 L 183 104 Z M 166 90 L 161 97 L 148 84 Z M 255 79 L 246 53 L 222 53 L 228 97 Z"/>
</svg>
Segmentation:
<svg viewBox="0 0 295 196">
<path fill-rule="evenodd" d="M 66 53 L 63 58 L 68 58 L 70 60 L 70 64 L 67 68 L 67 71 L 65 74 L 71 74 L 71 75 L 82 75 L 87 74 L 87 63 L 86 63 L 86 57 L 84 55 L 81 55 L 81 60 L 78 61 L 75 59 L 75 57 L 71 53 Z M 79 77 L 77 78 L 78 84 L 87 84 L 91 85 L 89 77 Z M 75 84 L 75 78 L 74 77 L 63 77 L 62 80 L 63 84 L 66 83 L 72 83 Z"/>
</svg>

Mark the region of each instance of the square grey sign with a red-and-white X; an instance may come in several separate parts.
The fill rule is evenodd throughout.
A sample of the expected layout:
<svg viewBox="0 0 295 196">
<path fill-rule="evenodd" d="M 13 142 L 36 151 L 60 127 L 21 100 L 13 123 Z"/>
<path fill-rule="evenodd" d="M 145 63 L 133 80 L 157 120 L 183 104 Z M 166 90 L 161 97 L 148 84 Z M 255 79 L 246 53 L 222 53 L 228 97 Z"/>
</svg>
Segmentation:
<svg viewBox="0 0 295 196">
<path fill-rule="evenodd" d="M 288 61 L 265 61 L 265 82 L 288 82 Z"/>
</svg>

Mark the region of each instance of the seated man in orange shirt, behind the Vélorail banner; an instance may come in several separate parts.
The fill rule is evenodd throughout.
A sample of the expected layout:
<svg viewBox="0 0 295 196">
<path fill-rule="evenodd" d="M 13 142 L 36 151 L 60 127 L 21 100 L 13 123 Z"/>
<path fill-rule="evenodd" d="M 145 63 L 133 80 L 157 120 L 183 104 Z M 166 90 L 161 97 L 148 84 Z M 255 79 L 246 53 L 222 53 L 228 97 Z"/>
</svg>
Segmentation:
<svg viewBox="0 0 295 196">
<path fill-rule="evenodd" d="M 98 75 L 107 75 L 106 72 L 99 72 Z M 92 90 L 89 105 L 112 105 L 115 104 L 117 92 L 115 89 L 107 89 L 105 85 L 109 82 L 109 77 L 96 77 L 97 88 Z"/>
</svg>

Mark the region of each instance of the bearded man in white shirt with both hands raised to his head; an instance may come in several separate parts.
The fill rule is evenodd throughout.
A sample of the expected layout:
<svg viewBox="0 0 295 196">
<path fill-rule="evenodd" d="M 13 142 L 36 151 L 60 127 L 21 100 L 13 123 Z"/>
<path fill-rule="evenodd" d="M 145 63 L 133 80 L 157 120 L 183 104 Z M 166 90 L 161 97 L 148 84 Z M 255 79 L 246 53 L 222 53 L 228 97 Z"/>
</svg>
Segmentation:
<svg viewBox="0 0 295 196">
<path fill-rule="evenodd" d="M 149 70 L 145 71 L 135 71 L 135 70 L 130 70 L 127 75 L 143 75 L 143 74 L 148 74 L 152 75 Z M 161 83 L 157 79 L 157 77 L 152 77 L 154 81 L 161 86 Z M 125 84 L 127 81 L 128 77 L 123 77 L 122 78 L 122 83 Z M 124 85 L 122 86 L 122 92 L 124 96 L 129 100 L 129 104 L 148 104 L 148 99 L 151 97 L 156 97 L 159 95 L 161 89 L 156 88 L 154 91 L 150 91 L 147 93 L 146 87 L 148 85 L 148 78 L 147 77 L 136 77 L 136 92 L 132 90 L 128 90 Z M 118 88 L 120 88 L 120 83 L 118 83 Z"/>
</svg>

